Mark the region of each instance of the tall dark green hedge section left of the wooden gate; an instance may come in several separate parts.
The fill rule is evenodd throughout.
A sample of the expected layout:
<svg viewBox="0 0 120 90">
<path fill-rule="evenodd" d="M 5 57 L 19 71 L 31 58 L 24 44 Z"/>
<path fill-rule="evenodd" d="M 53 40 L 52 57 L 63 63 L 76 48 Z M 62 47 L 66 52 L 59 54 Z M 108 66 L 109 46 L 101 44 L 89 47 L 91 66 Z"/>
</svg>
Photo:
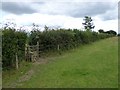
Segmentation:
<svg viewBox="0 0 120 90">
<path fill-rule="evenodd" d="M 18 59 L 24 57 L 25 43 L 27 34 L 24 31 L 16 31 L 15 29 L 2 30 L 2 63 L 3 69 L 15 67 L 15 55 Z"/>
</svg>

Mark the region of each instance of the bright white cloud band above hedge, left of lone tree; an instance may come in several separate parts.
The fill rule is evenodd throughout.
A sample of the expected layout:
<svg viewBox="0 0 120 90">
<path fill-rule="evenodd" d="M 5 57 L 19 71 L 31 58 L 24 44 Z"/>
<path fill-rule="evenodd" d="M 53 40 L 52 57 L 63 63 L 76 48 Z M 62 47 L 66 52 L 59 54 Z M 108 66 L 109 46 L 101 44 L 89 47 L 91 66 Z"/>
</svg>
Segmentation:
<svg viewBox="0 0 120 90">
<path fill-rule="evenodd" d="M 80 18 L 73 18 L 64 15 L 47 15 L 47 14 L 24 14 L 24 15 L 14 15 L 9 14 L 1 18 L 3 21 L 13 21 L 17 25 L 32 25 L 32 23 L 38 24 L 40 26 L 60 26 L 64 28 L 80 28 L 81 21 Z M 77 26 L 77 27 L 76 27 Z"/>
</svg>

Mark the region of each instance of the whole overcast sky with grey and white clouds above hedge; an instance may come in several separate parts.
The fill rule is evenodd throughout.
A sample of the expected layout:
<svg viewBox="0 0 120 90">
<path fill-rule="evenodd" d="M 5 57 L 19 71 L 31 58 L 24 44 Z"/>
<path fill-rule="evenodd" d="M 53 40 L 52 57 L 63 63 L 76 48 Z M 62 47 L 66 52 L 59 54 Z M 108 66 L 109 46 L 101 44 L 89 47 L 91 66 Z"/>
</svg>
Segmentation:
<svg viewBox="0 0 120 90">
<path fill-rule="evenodd" d="M 83 18 L 88 15 L 93 19 L 94 31 L 118 32 L 118 0 L 3 0 L 1 4 L 0 23 L 12 21 L 28 30 L 32 23 L 41 28 L 83 29 Z"/>
</svg>

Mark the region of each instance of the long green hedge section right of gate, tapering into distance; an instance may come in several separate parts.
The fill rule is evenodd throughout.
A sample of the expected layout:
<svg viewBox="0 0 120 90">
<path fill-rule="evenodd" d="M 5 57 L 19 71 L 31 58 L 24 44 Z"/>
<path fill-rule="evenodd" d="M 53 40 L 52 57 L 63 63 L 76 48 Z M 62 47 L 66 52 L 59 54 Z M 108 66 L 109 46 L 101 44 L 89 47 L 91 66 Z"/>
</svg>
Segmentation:
<svg viewBox="0 0 120 90">
<path fill-rule="evenodd" d="M 111 34 L 78 29 L 47 29 L 43 32 L 33 30 L 29 37 L 29 44 L 36 45 L 37 41 L 39 41 L 41 51 L 57 50 L 58 45 L 60 50 L 68 50 L 80 44 L 88 44 L 111 36 Z"/>
</svg>

